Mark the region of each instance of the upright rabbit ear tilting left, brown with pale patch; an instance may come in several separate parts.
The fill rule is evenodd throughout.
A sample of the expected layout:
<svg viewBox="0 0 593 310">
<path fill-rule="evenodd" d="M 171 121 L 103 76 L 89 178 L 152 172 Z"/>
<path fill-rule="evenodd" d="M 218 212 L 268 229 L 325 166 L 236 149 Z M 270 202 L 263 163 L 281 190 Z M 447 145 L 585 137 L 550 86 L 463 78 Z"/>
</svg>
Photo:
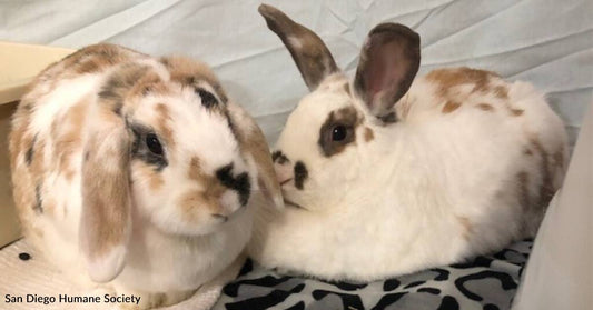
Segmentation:
<svg viewBox="0 0 593 310">
<path fill-rule="evenodd" d="M 315 90 L 327 76 L 339 71 L 332 53 L 315 32 L 271 6 L 261 4 L 258 11 L 290 51 L 309 90 Z"/>
</svg>

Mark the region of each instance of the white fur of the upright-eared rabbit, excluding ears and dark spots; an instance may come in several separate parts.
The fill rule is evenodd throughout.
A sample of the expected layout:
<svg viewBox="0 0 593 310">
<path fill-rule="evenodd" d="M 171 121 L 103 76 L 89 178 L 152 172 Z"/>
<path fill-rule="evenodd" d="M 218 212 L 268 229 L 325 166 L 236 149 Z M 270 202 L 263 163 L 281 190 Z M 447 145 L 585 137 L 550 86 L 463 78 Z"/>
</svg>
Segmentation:
<svg viewBox="0 0 593 310">
<path fill-rule="evenodd" d="M 525 156 L 524 147 L 535 136 L 548 160 L 563 149 L 566 160 L 564 128 L 531 84 L 494 82 L 508 89 L 508 102 L 523 116 L 510 116 L 494 93 L 470 97 L 443 113 L 436 86 L 418 78 L 395 106 L 401 119 L 383 126 L 359 99 L 336 91 L 344 89 L 344 78 L 326 78 L 289 116 L 276 146 L 290 160 L 276 164 L 281 180 L 294 177 L 297 160 L 308 168 L 304 190 L 291 181 L 283 186 L 286 201 L 302 208 L 259 212 L 250 254 L 268 268 L 367 281 L 458 262 L 533 237 L 543 209 L 521 210 L 515 176 L 526 171 L 528 191 L 537 192 L 542 159 L 535 151 Z M 480 110 L 480 102 L 495 110 Z M 326 158 L 317 143 L 319 128 L 343 107 L 355 107 L 365 120 L 354 144 Z M 365 128 L 374 132 L 368 142 Z M 565 163 L 553 173 L 554 188 L 564 169 Z"/>
</svg>

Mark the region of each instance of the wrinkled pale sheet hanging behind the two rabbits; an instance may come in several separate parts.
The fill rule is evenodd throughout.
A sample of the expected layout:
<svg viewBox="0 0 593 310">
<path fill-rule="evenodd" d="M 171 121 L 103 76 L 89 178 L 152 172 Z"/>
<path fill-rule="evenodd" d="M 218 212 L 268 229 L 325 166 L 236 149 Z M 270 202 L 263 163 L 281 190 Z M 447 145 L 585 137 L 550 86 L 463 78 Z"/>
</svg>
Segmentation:
<svg viewBox="0 0 593 310">
<path fill-rule="evenodd" d="M 405 23 L 422 36 L 422 72 L 472 66 L 534 82 L 574 139 L 593 93 L 591 0 L 269 0 L 326 40 L 352 73 L 368 30 Z M 214 67 L 231 98 L 274 141 L 306 92 L 267 28 L 260 1 L 0 0 L 0 40 L 68 48 L 108 41 L 151 54 L 182 53 Z M 0 68 L 1 70 L 1 68 Z"/>
</svg>

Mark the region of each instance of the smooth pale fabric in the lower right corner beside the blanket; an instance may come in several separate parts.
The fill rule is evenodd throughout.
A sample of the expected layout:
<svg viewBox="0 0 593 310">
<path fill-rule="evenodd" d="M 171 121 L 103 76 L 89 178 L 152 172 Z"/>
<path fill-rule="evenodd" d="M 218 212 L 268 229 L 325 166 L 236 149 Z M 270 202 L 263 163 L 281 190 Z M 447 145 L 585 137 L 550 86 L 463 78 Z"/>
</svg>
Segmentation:
<svg viewBox="0 0 593 310">
<path fill-rule="evenodd" d="M 593 104 L 563 188 L 540 227 L 513 310 L 590 310 L 593 304 Z"/>
</svg>

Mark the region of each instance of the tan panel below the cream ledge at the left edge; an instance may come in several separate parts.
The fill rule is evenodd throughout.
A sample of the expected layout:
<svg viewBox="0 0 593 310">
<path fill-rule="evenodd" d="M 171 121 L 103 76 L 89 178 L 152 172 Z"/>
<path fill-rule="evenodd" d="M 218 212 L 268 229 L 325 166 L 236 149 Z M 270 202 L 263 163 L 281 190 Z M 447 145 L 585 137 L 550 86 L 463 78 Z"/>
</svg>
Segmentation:
<svg viewBox="0 0 593 310">
<path fill-rule="evenodd" d="M 21 236 L 14 202 L 12 200 L 10 164 L 8 160 L 10 116 L 12 116 L 16 108 L 16 102 L 0 104 L 0 248 L 17 240 Z"/>
</svg>

